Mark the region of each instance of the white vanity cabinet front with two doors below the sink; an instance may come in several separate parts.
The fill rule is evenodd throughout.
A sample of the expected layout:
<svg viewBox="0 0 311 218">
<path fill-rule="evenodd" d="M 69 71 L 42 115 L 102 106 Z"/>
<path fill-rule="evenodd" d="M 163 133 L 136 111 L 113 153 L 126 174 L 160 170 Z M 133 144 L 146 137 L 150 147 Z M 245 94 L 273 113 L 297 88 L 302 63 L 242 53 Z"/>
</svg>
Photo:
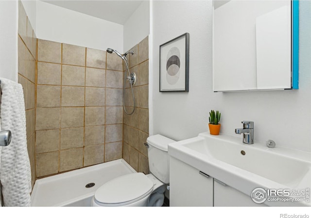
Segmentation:
<svg viewBox="0 0 311 218">
<path fill-rule="evenodd" d="M 170 206 L 266 206 L 204 173 L 171 156 Z"/>
</svg>

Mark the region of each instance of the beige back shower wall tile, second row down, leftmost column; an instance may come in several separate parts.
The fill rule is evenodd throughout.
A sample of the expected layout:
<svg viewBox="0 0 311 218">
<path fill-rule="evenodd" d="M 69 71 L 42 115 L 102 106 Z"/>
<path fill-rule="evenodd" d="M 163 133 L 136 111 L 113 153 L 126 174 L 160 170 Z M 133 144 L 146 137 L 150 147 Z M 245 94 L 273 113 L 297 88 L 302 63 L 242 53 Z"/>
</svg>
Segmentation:
<svg viewBox="0 0 311 218">
<path fill-rule="evenodd" d="M 38 62 L 38 84 L 60 85 L 61 84 L 61 64 Z"/>
</svg>

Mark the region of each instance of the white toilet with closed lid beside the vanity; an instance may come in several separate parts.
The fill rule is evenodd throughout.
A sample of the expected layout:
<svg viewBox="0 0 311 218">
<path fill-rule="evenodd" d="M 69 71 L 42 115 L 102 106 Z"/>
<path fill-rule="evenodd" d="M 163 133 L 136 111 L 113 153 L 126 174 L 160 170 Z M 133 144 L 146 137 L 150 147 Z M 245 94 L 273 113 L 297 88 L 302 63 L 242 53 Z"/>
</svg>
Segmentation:
<svg viewBox="0 0 311 218">
<path fill-rule="evenodd" d="M 150 174 L 130 173 L 99 187 L 92 206 L 162 206 L 170 179 L 168 144 L 175 142 L 161 135 L 147 139 Z"/>
</svg>

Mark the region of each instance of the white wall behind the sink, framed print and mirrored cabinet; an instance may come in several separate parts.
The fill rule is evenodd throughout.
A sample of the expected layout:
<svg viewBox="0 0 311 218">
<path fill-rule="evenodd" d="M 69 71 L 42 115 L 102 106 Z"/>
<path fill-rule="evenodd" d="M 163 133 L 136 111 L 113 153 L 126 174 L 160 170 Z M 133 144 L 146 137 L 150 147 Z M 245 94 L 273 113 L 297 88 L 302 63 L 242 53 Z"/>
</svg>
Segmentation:
<svg viewBox="0 0 311 218">
<path fill-rule="evenodd" d="M 299 90 L 212 92 L 212 1 L 153 1 L 151 134 L 174 140 L 208 131 L 208 111 L 222 113 L 221 133 L 255 122 L 255 140 L 311 152 L 311 1 L 300 1 Z M 189 93 L 159 93 L 159 45 L 190 33 Z"/>
</svg>

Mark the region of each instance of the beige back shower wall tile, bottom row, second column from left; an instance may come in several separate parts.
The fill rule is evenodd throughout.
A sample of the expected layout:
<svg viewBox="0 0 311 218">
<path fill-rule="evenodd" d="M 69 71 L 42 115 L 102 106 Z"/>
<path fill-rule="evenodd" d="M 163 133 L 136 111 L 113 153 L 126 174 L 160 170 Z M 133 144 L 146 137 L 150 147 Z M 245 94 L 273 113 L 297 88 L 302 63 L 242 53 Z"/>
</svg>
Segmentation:
<svg viewBox="0 0 311 218">
<path fill-rule="evenodd" d="M 83 167 L 83 148 L 60 151 L 59 171 L 69 171 Z"/>
</svg>

